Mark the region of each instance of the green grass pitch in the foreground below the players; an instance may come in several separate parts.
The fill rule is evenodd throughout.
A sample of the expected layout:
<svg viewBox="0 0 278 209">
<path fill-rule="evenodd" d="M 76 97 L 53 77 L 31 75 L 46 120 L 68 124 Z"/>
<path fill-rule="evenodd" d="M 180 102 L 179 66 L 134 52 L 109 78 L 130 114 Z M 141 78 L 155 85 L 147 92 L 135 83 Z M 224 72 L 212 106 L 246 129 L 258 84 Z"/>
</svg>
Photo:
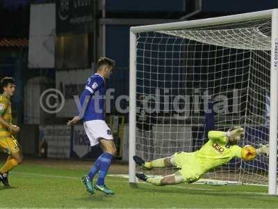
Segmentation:
<svg viewBox="0 0 278 209">
<path fill-rule="evenodd" d="M 89 168 L 88 168 L 89 169 Z M 0 185 L 1 208 L 277 208 L 277 196 L 267 187 L 250 185 L 179 185 L 130 187 L 126 178 L 108 177 L 114 196 L 89 195 L 80 182 L 85 169 L 22 164 L 10 172 L 10 184 Z"/>
</svg>

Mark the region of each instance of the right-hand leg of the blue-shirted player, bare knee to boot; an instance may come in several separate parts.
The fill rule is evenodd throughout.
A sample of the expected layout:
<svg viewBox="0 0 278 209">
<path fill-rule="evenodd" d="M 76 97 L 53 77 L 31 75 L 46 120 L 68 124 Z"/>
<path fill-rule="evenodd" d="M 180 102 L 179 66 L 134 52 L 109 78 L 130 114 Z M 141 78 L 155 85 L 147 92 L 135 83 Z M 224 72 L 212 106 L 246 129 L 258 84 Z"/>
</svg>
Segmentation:
<svg viewBox="0 0 278 209">
<path fill-rule="evenodd" d="M 108 187 L 106 187 L 106 185 L 104 184 L 104 179 L 106 178 L 108 169 L 111 166 L 112 157 L 116 154 L 117 150 L 114 141 L 111 139 L 102 138 L 99 140 L 99 142 L 101 144 L 101 148 L 104 150 L 104 153 L 99 156 L 99 178 L 95 185 L 95 189 L 106 194 L 114 194 L 111 189 L 108 189 Z"/>
</svg>

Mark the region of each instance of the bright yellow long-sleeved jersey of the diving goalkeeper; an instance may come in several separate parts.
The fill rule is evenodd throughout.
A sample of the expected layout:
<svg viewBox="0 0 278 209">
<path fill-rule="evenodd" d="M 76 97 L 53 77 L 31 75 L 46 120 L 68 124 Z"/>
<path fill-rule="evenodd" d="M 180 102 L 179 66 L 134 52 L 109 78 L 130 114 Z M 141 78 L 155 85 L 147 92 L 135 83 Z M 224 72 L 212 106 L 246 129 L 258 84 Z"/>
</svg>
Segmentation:
<svg viewBox="0 0 278 209">
<path fill-rule="evenodd" d="M 227 164 L 234 157 L 241 157 L 242 148 L 237 145 L 230 146 L 226 132 L 210 131 L 208 132 L 208 139 L 208 142 L 195 152 L 202 173 Z"/>
</svg>

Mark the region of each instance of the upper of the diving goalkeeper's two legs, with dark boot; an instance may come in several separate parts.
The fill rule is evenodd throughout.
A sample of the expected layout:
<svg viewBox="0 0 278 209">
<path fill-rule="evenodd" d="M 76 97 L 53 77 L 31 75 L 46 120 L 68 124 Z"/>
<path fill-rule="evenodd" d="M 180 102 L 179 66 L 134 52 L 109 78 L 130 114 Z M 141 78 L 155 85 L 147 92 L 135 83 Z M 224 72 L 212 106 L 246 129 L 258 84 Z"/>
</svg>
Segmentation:
<svg viewBox="0 0 278 209">
<path fill-rule="evenodd" d="M 177 167 L 177 164 L 174 161 L 174 155 L 170 157 L 160 158 L 157 160 L 152 160 L 150 162 L 145 162 L 145 160 L 142 160 L 141 157 L 134 155 L 133 160 L 134 162 L 136 162 L 136 164 L 138 164 L 138 166 L 143 167 L 145 169 Z"/>
</svg>

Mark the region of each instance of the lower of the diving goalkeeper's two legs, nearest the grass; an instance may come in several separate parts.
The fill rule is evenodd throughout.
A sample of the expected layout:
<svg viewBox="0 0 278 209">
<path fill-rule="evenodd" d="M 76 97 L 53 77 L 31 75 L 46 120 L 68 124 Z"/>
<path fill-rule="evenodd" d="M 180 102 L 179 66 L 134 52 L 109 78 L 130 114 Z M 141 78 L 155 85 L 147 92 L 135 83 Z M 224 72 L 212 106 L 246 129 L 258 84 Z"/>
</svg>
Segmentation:
<svg viewBox="0 0 278 209">
<path fill-rule="evenodd" d="M 169 175 L 169 176 L 162 176 L 162 177 L 155 177 L 150 178 L 145 175 L 145 173 L 136 173 L 136 177 L 140 180 L 143 180 L 147 183 L 156 186 L 165 186 L 165 185 L 177 185 L 183 183 L 184 179 L 181 173 L 177 171 L 176 173 Z"/>
</svg>

